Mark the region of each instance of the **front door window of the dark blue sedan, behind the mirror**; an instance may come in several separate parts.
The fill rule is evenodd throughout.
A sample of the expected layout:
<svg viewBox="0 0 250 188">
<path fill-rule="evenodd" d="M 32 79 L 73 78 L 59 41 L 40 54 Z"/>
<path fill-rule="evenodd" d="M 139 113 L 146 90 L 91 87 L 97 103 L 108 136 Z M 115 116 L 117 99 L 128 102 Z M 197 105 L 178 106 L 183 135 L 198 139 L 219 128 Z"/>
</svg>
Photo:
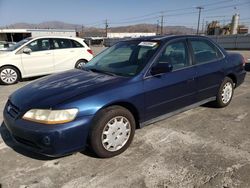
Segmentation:
<svg viewBox="0 0 250 188">
<path fill-rule="evenodd" d="M 166 46 L 157 63 L 169 63 L 173 70 L 189 66 L 188 50 L 184 41 L 174 42 Z"/>
</svg>

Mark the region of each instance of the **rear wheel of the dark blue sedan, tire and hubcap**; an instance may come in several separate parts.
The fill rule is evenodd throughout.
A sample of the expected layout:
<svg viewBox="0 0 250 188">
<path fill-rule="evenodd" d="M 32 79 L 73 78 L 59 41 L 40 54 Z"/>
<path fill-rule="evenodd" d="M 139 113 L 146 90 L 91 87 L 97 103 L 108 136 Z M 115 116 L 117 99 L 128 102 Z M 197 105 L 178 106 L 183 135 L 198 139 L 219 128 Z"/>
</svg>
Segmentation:
<svg viewBox="0 0 250 188">
<path fill-rule="evenodd" d="M 220 89 L 216 96 L 216 106 L 219 108 L 229 105 L 233 98 L 234 83 L 231 78 L 226 77 L 220 85 Z"/>
</svg>

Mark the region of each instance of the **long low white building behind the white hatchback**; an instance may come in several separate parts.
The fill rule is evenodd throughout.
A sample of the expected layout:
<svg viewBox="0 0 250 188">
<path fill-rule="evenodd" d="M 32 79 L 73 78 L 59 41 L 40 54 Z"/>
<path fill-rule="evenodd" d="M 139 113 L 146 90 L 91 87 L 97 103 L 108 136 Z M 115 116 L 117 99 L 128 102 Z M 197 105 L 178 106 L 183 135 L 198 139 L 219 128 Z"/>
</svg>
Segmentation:
<svg viewBox="0 0 250 188">
<path fill-rule="evenodd" d="M 27 37 L 48 35 L 75 37 L 76 31 L 64 29 L 0 29 L 0 41 L 18 42 Z"/>
</svg>

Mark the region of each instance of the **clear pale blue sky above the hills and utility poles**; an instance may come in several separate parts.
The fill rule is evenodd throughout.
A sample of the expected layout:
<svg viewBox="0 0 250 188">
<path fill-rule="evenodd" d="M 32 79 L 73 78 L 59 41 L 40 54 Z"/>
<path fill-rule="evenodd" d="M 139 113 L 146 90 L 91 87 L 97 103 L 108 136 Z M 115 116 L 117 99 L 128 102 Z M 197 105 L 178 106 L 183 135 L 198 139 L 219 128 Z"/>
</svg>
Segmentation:
<svg viewBox="0 0 250 188">
<path fill-rule="evenodd" d="M 250 0 L 0 0 L 0 26 L 14 23 L 62 21 L 83 26 L 109 27 L 153 23 L 165 26 L 197 26 L 202 6 L 201 25 L 211 20 L 228 23 L 240 14 L 240 23 L 250 25 Z"/>
</svg>

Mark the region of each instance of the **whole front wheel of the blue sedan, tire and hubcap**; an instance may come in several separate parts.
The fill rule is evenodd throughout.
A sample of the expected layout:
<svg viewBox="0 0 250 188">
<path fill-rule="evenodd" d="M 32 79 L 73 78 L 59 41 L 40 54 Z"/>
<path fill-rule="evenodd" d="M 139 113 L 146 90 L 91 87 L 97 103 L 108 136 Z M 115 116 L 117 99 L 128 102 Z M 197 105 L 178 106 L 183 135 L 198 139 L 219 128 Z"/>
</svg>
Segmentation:
<svg viewBox="0 0 250 188">
<path fill-rule="evenodd" d="M 124 152 L 135 133 L 133 115 L 121 106 L 107 107 L 96 115 L 90 132 L 90 146 L 100 158 Z"/>
</svg>

